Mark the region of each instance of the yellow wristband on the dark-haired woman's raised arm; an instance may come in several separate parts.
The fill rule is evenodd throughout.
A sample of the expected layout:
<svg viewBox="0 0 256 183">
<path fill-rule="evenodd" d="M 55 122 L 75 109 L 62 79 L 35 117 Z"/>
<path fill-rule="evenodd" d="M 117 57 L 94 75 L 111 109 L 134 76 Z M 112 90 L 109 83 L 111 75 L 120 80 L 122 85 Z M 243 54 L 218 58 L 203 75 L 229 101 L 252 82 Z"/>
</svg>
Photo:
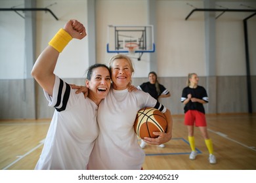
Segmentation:
<svg viewBox="0 0 256 183">
<path fill-rule="evenodd" d="M 58 33 L 54 35 L 53 39 L 49 42 L 49 45 L 58 52 L 62 52 L 62 50 L 68 45 L 68 42 L 70 42 L 71 40 L 72 36 L 64 29 L 60 29 Z"/>
</svg>

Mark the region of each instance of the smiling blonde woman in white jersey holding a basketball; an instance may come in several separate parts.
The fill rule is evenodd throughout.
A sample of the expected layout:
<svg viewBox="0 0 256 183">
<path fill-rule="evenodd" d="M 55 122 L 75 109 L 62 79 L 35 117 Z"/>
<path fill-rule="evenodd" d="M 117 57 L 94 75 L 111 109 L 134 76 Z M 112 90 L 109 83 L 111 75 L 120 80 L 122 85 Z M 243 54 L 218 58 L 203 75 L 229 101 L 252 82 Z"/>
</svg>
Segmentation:
<svg viewBox="0 0 256 183">
<path fill-rule="evenodd" d="M 140 148 L 133 124 L 142 107 L 158 108 L 168 121 L 167 133 L 155 132 L 158 138 L 146 138 L 150 144 L 163 144 L 171 140 L 171 112 L 149 93 L 137 90 L 129 92 L 134 69 L 132 61 L 125 55 L 110 59 L 112 88 L 98 108 L 100 132 L 90 156 L 88 169 L 142 169 L 144 151 Z"/>
</svg>

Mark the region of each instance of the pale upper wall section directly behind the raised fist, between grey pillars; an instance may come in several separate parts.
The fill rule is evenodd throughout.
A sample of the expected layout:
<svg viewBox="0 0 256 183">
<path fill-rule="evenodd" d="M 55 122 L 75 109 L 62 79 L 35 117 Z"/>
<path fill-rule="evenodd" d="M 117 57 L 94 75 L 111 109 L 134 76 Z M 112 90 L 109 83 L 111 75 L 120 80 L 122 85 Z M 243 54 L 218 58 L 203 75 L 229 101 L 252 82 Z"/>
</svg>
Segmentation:
<svg viewBox="0 0 256 183">
<path fill-rule="evenodd" d="M 58 17 L 58 21 L 49 13 L 37 13 L 37 56 L 68 20 L 77 19 L 87 27 L 87 1 L 43 0 L 37 1 L 37 7 L 47 7 L 55 2 L 57 4 L 49 7 L 49 9 Z M 81 41 L 74 39 L 60 54 L 54 73 L 62 78 L 84 78 L 88 67 L 87 39 Z"/>
</svg>

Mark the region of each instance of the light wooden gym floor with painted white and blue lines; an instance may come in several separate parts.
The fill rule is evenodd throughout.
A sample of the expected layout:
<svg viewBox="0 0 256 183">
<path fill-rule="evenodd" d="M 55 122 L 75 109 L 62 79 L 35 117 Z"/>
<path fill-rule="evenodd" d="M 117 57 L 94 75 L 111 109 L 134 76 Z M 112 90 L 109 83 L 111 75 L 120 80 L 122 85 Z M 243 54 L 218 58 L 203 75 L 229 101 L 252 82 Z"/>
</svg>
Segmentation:
<svg viewBox="0 0 256 183">
<path fill-rule="evenodd" d="M 51 119 L 1 120 L 0 169 L 33 170 L 43 148 Z M 242 122 L 242 123 L 241 123 Z M 198 156 L 188 159 L 190 146 L 183 116 L 173 116 L 173 138 L 165 148 L 147 145 L 145 170 L 254 170 L 256 169 L 256 115 L 207 115 L 208 131 L 217 163 L 208 161 L 200 131 L 195 129 Z M 140 143 L 140 139 L 138 139 Z"/>
</svg>

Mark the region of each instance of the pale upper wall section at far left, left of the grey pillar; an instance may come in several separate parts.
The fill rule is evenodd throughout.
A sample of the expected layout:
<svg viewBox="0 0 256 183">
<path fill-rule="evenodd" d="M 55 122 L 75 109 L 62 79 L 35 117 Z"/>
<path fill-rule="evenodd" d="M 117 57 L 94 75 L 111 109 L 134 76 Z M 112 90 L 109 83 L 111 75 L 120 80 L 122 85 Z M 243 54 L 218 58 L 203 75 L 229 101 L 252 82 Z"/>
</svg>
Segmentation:
<svg viewBox="0 0 256 183">
<path fill-rule="evenodd" d="M 0 1 L 1 8 L 24 4 L 23 1 Z M 17 7 L 20 8 L 20 7 Z M 25 78 L 25 21 L 12 11 L 0 11 L 0 79 Z"/>
</svg>

